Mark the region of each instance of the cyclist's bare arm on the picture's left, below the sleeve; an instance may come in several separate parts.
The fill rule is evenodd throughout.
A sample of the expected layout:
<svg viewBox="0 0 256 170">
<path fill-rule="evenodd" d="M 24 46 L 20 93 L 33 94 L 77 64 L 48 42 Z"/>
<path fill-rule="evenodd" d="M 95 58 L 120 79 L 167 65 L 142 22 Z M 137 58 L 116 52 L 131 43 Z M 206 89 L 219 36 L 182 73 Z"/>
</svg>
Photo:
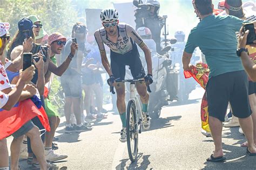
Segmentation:
<svg viewBox="0 0 256 170">
<path fill-rule="evenodd" d="M 96 31 L 94 36 L 95 36 L 96 42 L 99 46 L 100 57 L 102 58 L 102 65 L 104 66 L 107 74 L 109 74 L 109 76 L 111 76 L 111 75 L 113 75 L 113 73 L 111 71 L 111 66 L 110 66 L 109 60 L 106 57 L 105 47 L 104 47 L 102 38 L 100 37 L 99 31 Z"/>
</svg>

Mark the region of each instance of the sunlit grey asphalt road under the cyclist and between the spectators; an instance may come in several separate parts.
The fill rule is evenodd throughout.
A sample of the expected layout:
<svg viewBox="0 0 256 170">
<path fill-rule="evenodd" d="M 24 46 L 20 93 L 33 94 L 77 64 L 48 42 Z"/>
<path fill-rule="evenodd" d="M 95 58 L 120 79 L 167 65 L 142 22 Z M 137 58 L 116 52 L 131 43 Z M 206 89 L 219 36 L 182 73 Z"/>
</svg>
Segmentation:
<svg viewBox="0 0 256 170">
<path fill-rule="evenodd" d="M 139 134 L 138 160 L 131 164 L 126 143 L 119 141 L 122 128 L 118 114 L 110 113 L 99 121 L 92 131 L 64 133 L 64 118 L 56 136 L 57 153 L 68 154 L 64 161 L 56 162 L 68 169 L 256 169 L 256 157 L 246 154 L 240 147 L 245 141 L 238 127 L 223 129 L 223 149 L 226 162 L 207 162 L 214 150 L 211 137 L 201 134 L 200 98 L 198 88 L 190 94 L 186 104 L 170 103 L 161 111 L 151 128 Z M 10 145 L 11 138 L 8 139 Z M 20 161 L 22 169 L 30 169 Z"/>
</svg>

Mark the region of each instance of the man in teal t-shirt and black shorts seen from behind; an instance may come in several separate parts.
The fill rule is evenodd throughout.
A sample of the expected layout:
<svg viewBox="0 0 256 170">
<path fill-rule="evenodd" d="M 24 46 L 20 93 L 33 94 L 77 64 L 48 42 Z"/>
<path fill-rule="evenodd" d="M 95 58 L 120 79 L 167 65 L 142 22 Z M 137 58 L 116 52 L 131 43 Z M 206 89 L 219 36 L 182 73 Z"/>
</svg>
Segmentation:
<svg viewBox="0 0 256 170">
<path fill-rule="evenodd" d="M 191 30 L 183 53 L 183 68 L 191 70 L 190 59 L 196 47 L 204 53 L 210 67 L 206 87 L 208 123 L 214 140 L 215 151 L 207 161 L 224 161 L 221 144 L 222 122 L 228 101 L 239 118 L 242 130 L 250 140 L 248 151 L 256 153 L 253 141 L 251 108 L 248 102 L 248 80 L 241 59 L 236 55 L 237 37 L 243 20 L 233 16 L 214 16 L 212 0 L 194 0 L 194 9 L 201 19 Z M 249 141 L 248 141 L 249 144 Z"/>
</svg>

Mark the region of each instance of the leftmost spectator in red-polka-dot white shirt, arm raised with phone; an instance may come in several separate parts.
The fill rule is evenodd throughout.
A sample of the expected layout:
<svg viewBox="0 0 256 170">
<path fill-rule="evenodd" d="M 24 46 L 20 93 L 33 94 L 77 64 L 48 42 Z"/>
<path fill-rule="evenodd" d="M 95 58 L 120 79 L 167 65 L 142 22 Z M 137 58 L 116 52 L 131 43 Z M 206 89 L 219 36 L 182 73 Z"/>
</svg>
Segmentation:
<svg viewBox="0 0 256 170">
<path fill-rule="evenodd" d="M 1 37 L 1 42 L 2 42 L 2 46 L 0 47 L 0 56 L 1 56 L 1 60 L 2 60 L 2 56 L 3 56 L 3 51 L 5 50 L 6 47 L 6 42 L 8 37 L 6 36 L 6 32 L 9 29 L 9 24 L 8 23 L 0 23 L 1 28 L 0 29 L 0 37 Z M 10 38 L 10 37 L 9 37 Z M 1 108 L 6 109 L 6 110 L 11 110 L 12 106 L 14 106 L 18 100 L 24 100 L 26 98 L 30 98 L 33 96 L 33 94 L 35 94 L 35 88 L 31 85 L 26 85 L 28 84 L 28 82 L 32 79 L 32 76 L 35 72 L 33 72 L 35 70 L 35 68 L 33 66 L 29 67 L 28 69 L 26 69 L 23 72 L 20 72 L 20 78 L 16 84 L 16 87 L 14 87 L 14 89 L 11 89 L 11 85 L 9 84 L 9 80 L 8 77 L 6 76 L 5 73 L 5 69 L 3 67 L 3 64 L 1 63 L 0 65 L 1 67 L 1 80 L 5 82 L 5 85 L 1 85 L 1 93 L 5 93 L 3 94 L 3 97 L 5 97 L 5 101 L 1 104 Z M 25 88 L 24 88 L 25 87 Z M 34 112 L 31 110 L 31 112 Z M 8 112 L 7 112 L 8 113 Z M 14 114 L 14 112 L 11 110 L 9 112 L 10 115 Z M 28 115 L 26 115 L 29 117 L 29 113 Z M 23 119 L 22 119 L 23 120 Z M 13 121 L 13 120 L 12 120 Z M 8 167 L 8 151 L 6 148 L 6 140 L 3 139 L 3 135 L 6 133 L 5 130 L 8 130 L 8 132 L 13 131 L 10 129 L 10 125 L 3 125 L 5 121 L 1 120 L 1 127 L 7 127 L 6 129 L 1 128 L 1 161 L 0 161 L 0 167 L 4 168 L 4 169 L 9 169 Z M 14 124 L 12 124 L 14 125 Z M 23 124 L 16 124 L 16 127 L 13 127 L 14 129 L 18 130 L 13 133 L 12 135 L 14 136 L 14 140 L 12 141 L 11 144 L 11 168 L 12 169 L 18 169 L 18 157 L 19 157 L 19 149 L 20 149 L 20 145 L 21 142 L 23 140 L 23 135 L 26 134 L 28 135 L 28 137 L 31 138 L 32 141 L 32 147 L 33 147 L 33 151 L 35 152 L 39 164 L 41 166 L 42 169 L 52 169 L 52 165 L 47 164 L 44 153 L 43 153 L 43 142 L 41 141 L 40 137 L 39 137 L 39 131 L 38 128 L 33 125 L 33 123 L 31 121 L 28 122 L 23 122 Z M 3 151 L 3 152 L 2 152 Z M 3 156 L 3 157 L 2 157 Z M 2 159 L 3 158 L 3 159 Z"/>
</svg>

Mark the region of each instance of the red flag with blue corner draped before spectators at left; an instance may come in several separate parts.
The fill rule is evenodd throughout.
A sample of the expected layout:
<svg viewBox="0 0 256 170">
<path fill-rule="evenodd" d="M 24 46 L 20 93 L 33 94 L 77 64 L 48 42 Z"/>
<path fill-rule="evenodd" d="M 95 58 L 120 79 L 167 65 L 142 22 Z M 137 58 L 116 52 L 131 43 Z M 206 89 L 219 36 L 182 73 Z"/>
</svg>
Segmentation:
<svg viewBox="0 0 256 170">
<path fill-rule="evenodd" d="M 36 96 L 18 102 L 10 111 L 0 109 L 0 140 L 9 137 L 36 116 L 45 130 L 50 131 L 48 117 L 41 105 L 41 100 Z"/>
</svg>

